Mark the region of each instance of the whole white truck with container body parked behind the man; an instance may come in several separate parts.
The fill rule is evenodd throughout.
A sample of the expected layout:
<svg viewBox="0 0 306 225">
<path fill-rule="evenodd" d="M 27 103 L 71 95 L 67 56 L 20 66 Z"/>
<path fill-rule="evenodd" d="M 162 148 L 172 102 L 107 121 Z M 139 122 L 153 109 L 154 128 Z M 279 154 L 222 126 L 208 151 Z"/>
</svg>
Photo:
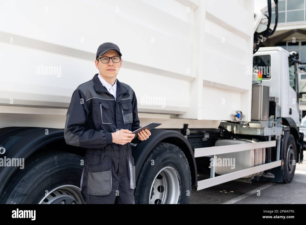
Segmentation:
<svg viewBox="0 0 306 225">
<path fill-rule="evenodd" d="M 131 144 L 136 203 L 185 204 L 192 186 L 232 180 L 290 182 L 303 159 L 300 61 L 259 48 L 275 31 L 274 5 L 1 1 L 0 203 L 84 203 L 85 149 L 65 143 L 64 126 L 104 42 L 123 54 L 117 79 L 136 93 L 140 126 L 162 123 Z"/>
</svg>

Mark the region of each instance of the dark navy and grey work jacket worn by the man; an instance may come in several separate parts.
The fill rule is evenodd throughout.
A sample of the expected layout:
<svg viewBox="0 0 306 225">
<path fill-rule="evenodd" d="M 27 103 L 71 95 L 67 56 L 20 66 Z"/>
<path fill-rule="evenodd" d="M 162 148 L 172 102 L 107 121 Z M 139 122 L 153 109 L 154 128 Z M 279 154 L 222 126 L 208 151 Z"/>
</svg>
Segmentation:
<svg viewBox="0 0 306 225">
<path fill-rule="evenodd" d="M 66 114 L 64 138 L 67 144 L 78 147 L 119 150 L 120 144 L 113 143 L 111 133 L 140 128 L 137 99 L 133 89 L 117 79 L 115 101 L 98 76 L 95 74 L 73 92 Z M 138 137 L 131 142 L 141 143 Z"/>
</svg>

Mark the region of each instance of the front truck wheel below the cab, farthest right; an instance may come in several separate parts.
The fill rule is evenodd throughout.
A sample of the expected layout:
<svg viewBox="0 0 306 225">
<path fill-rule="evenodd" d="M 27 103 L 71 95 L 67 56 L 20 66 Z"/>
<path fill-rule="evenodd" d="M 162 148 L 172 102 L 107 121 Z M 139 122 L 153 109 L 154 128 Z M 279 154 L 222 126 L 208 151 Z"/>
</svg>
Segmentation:
<svg viewBox="0 0 306 225">
<path fill-rule="evenodd" d="M 289 134 L 283 154 L 283 183 L 289 183 L 294 177 L 297 147 L 292 134 Z M 294 160 L 294 161 L 293 161 Z"/>
</svg>

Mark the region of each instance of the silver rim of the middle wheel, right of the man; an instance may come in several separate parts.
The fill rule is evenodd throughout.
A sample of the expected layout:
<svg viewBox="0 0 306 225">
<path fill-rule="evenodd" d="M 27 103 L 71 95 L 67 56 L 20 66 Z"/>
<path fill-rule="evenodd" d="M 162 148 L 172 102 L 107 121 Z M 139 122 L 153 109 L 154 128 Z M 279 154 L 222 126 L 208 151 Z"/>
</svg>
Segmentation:
<svg viewBox="0 0 306 225">
<path fill-rule="evenodd" d="M 180 181 L 172 167 L 162 168 L 155 176 L 150 190 L 150 204 L 177 204 L 180 197 Z"/>
</svg>

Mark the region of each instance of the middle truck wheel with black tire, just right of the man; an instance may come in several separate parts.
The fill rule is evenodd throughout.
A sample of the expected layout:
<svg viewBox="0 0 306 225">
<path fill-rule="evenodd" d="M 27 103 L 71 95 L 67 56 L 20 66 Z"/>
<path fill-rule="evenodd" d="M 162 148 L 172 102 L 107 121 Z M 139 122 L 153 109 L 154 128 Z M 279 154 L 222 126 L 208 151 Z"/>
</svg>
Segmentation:
<svg viewBox="0 0 306 225">
<path fill-rule="evenodd" d="M 136 204 L 189 204 L 191 172 L 184 152 L 160 142 L 140 169 L 135 188 Z"/>
</svg>

